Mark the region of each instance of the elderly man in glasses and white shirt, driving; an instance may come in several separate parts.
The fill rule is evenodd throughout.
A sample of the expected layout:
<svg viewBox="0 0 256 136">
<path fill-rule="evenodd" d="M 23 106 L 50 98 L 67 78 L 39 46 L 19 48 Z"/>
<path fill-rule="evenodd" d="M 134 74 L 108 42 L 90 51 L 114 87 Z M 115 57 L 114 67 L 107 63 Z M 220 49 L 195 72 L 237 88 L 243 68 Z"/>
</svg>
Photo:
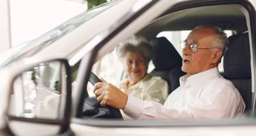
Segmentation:
<svg viewBox="0 0 256 136">
<path fill-rule="evenodd" d="M 245 103 L 235 86 L 224 79 L 217 66 L 227 49 L 228 39 L 218 27 L 199 26 L 192 30 L 183 48 L 180 86 L 162 105 L 128 96 L 115 86 L 97 83 L 94 93 L 102 106 L 123 109 L 133 119 L 221 119 L 241 116 Z"/>
</svg>

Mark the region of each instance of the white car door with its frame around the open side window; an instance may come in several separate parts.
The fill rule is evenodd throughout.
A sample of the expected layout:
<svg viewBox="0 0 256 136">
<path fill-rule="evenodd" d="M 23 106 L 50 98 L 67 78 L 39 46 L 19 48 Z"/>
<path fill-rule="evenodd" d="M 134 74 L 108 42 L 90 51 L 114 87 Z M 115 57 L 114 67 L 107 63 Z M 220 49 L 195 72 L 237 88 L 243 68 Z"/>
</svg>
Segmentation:
<svg viewBox="0 0 256 136">
<path fill-rule="evenodd" d="M 139 1 L 141 2 L 141 1 Z M 139 2 L 136 3 L 139 5 Z M 120 22 L 113 24 L 113 27 L 105 30 L 96 37 L 102 39 L 94 41 L 94 48 L 90 52 L 84 54 L 80 63 L 80 68 L 77 76 L 77 95 L 74 105 L 74 116 L 71 121 L 71 129 L 77 135 L 97 135 L 102 132 L 105 135 L 208 135 L 208 134 L 235 134 L 252 135 L 256 127 L 254 116 L 254 71 L 255 71 L 255 3 L 249 1 L 151 1 L 146 4 L 137 13 L 128 14 L 130 18 L 124 17 L 120 19 Z M 138 5 L 134 5 L 133 9 L 136 9 Z M 144 27 L 154 28 L 154 21 L 160 20 L 164 15 L 170 15 L 169 20 L 174 20 L 175 17 L 179 17 L 178 14 L 184 12 L 189 13 L 192 10 L 198 10 L 200 8 L 212 8 L 219 9 L 218 6 L 223 8 L 223 5 L 233 6 L 235 5 L 241 13 L 245 16 L 245 22 L 243 25 L 248 28 L 249 32 L 249 46 L 251 54 L 251 71 L 252 71 L 252 114 L 249 118 L 243 120 L 221 120 L 221 121 L 171 121 L 171 120 L 137 120 L 137 121 L 120 121 L 120 120 L 102 120 L 102 119 L 90 119 L 86 118 L 82 114 L 82 107 L 84 103 L 84 97 L 88 97 L 86 87 L 88 79 L 90 77 L 90 71 L 94 62 L 101 58 L 106 52 L 113 50 L 114 46 L 119 42 L 127 39 L 133 34 L 146 34 L 150 32 L 150 29 L 143 29 Z M 138 6 L 139 7 L 139 6 Z M 203 10 L 200 10 L 203 11 Z M 132 11 L 131 11 L 132 13 Z M 176 16 L 176 15 L 177 16 Z M 181 14 L 180 14 L 181 15 Z M 196 15 L 196 14 L 194 14 Z M 214 14 L 211 14 L 214 15 Z M 207 16 L 203 16 L 207 18 Z M 177 19 L 178 20 L 178 19 Z M 151 22 L 152 21 L 152 22 Z M 164 21 L 164 20 L 163 20 Z M 188 20 L 185 20 L 188 21 Z M 178 25 L 178 21 L 176 25 Z M 200 22 L 193 22 L 191 24 L 200 24 Z M 152 25 L 152 27 L 150 27 Z M 186 23 L 189 26 L 190 23 Z M 175 27 L 175 26 L 174 26 Z M 161 29 L 161 28 L 160 28 Z M 173 28 L 174 29 L 174 28 Z M 143 32 L 144 30 L 144 32 Z M 175 29 L 174 29 L 175 30 Z M 153 32 L 153 31 L 152 31 Z M 155 31 L 157 32 L 157 30 Z M 156 34 L 149 35 L 156 36 Z"/>
</svg>

